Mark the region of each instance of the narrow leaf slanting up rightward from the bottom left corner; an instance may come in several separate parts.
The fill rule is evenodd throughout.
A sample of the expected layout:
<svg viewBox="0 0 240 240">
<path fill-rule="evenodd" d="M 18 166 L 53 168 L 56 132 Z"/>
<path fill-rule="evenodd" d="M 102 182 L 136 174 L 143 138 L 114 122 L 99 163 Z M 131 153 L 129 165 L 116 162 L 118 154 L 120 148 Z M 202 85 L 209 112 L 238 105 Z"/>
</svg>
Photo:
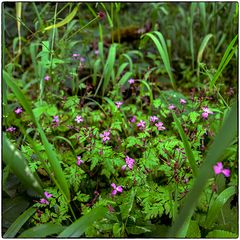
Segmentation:
<svg viewBox="0 0 240 240">
<path fill-rule="evenodd" d="M 23 224 L 36 212 L 34 207 L 28 208 L 21 214 L 8 228 L 6 233 L 3 235 L 4 238 L 14 238 L 18 231 L 21 229 Z"/>
</svg>

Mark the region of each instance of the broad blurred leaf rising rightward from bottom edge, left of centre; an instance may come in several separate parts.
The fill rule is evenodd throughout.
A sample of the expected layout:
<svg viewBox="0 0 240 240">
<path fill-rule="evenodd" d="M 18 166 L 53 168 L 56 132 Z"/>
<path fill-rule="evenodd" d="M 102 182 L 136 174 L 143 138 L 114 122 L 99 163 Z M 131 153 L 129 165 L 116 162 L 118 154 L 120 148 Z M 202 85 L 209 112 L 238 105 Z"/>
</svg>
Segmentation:
<svg viewBox="0 0 240 240">
<path fill-rule="evenodd" d="M 107 213 L 108 209 L 105 207 L 93 208 L 88 214 L 79 218 L 69 227 L 67 227 L 63 232 L 61 232 L 58 237 L 80 237 L 94 221 L 102 219 Z"/>
</svg>

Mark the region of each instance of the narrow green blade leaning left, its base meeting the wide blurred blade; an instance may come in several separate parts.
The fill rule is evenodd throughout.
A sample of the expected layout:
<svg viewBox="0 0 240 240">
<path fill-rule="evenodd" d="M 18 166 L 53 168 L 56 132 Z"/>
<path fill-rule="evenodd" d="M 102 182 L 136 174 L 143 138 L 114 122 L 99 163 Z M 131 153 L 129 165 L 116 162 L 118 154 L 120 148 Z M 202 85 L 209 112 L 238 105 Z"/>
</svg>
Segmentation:
<svg viewBox="0 0 240 240">
<path fill-rule="evenodd" d="M 187 136 L 186 134 L 184 133 L 183 129 L 182 129 L 182 126 L 181 126 L 181 123 L 180 121 L 178 120 L 176 114 L 174 112 L 172 112 L 172 115 L 173 115 L 173 118 L 174 118 L 174 122 L 176 123 L 176 126 L 177 126 L 177 129 L 178 129 L 178 132 L 179 132 L 179 135 L 183 141 L 183 145 L 184 145 L 184 149 L 186 151 L 186 155 L 187 155 L 187 158 L 188 158 L 188 161 L 189 161 L 189 164 L 192 168 L 192 171 L 193 171 L 193 175 L 196 177 L 197 176 L 197 173 L 198 173 L 198 167 L 197 167 L 197 164 L 196 164 L 196 160 L 194 158 L 194 155 L 193 155 L 193 152 L 192 152 L 192 149 L 190 147 L 190 144 L 189 144 L 189 141 L 187 139 Z"/>
</svg>

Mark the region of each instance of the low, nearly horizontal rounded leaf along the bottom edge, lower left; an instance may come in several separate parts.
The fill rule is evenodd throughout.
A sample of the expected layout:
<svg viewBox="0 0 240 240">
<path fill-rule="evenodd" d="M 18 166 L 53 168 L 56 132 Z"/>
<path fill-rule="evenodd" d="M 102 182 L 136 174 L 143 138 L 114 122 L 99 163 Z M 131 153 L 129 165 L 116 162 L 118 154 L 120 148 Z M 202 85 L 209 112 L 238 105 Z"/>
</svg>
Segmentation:
<svg viewBox="0 0 240 240">
<path fill-rule="evenodd" d="M 37 225 L 33 228 L 27 229 L 22 232 L 19 238 L 44 238 L 53 234 L 58 234 L 64 230 L 64 227 L 60 224 L 46 223 Z"/>
</svg>

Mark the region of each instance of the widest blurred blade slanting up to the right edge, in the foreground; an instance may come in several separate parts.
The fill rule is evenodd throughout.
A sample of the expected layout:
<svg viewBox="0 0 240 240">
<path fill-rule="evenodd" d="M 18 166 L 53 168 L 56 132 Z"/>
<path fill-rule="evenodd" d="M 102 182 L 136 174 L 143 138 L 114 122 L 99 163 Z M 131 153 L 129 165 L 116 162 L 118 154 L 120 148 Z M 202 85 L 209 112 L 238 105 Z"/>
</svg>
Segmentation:
<svg viewBox="0 0 240 240">
<path fill-rule="evenodd" d="M 204 190 L 208 179 L 213 175 L 212 167 L 224 154 L 226 148 L 237 134 L 237 102 L 233 104 L 229 115 L 225 119 L 222 128 L 218 132 L 213 144 L 210 146 L 206 159 L 198 171 L 192 190 L 189 192 L 185 205 L 181 209 L 178 218 L 170 229 L 169 236 L 178 237 L 182 227 L 192 216 L 198 199 Z"/>
</svg>

